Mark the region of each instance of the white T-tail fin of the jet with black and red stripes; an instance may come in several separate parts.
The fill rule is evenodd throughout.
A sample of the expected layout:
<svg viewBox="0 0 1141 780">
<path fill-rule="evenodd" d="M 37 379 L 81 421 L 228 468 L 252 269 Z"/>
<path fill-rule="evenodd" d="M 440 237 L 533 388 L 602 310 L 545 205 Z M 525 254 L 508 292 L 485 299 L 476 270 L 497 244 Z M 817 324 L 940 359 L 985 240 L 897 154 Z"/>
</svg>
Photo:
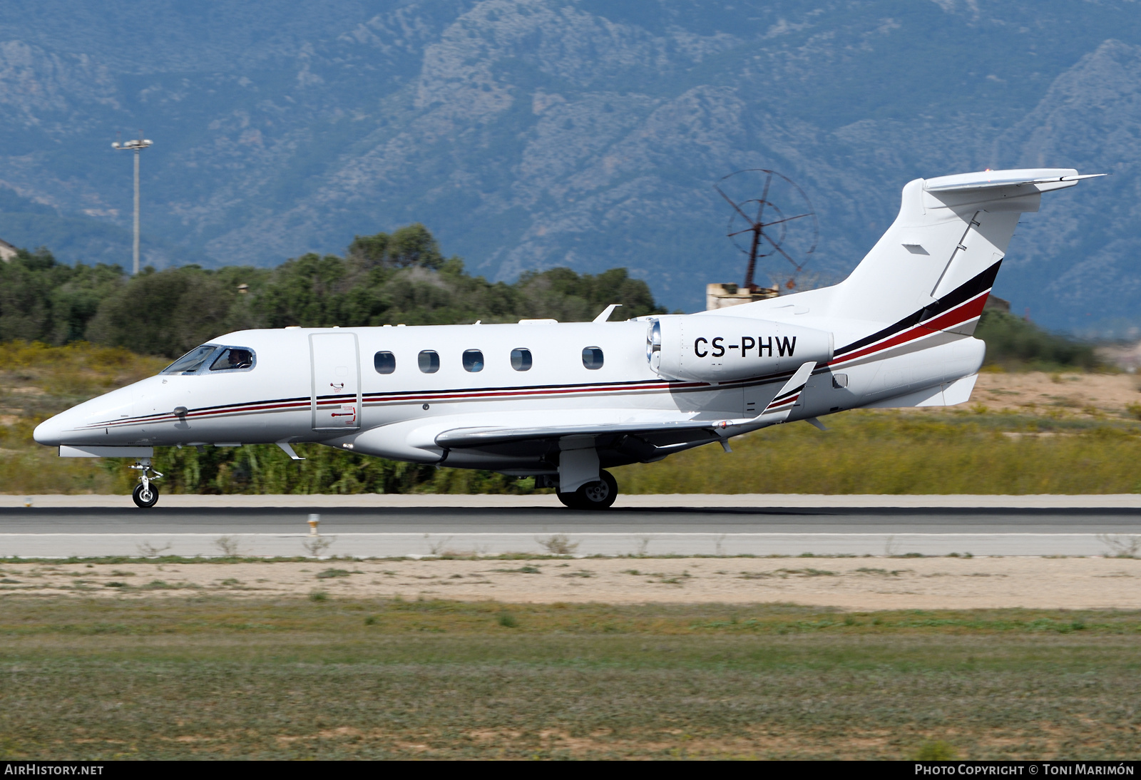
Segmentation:
<svg viewBox="0 0 1141 780">
<path fill-rule="evenodd" d="M 915 179 L 899 216 L 851 275 L 831 287 L 703 312 L 796 317 L 835 334 L 831 363 L 882 352 L 933 332 L 969 336 L 1022 213 L 1042 193 L 1073 187 L 1070 168 L 1035 168 Z"/>
</svg>

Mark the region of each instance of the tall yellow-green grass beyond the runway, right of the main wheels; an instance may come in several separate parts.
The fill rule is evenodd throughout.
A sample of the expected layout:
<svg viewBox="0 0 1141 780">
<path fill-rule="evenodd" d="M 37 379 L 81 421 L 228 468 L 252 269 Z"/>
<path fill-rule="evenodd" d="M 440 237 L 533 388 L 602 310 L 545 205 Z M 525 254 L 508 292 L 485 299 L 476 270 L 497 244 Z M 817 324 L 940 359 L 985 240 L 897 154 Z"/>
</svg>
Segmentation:
<svg viewBox="0 0 1141 780">
<path fill-rule="evenodd" d="M 1141 428 L 1018 414 L 848 412 L 614 469 L 623 493 L 1104 494 L 1141 491 Z M 1066 436 L 1011 437 L 1009 432 Z"/>
</svg>

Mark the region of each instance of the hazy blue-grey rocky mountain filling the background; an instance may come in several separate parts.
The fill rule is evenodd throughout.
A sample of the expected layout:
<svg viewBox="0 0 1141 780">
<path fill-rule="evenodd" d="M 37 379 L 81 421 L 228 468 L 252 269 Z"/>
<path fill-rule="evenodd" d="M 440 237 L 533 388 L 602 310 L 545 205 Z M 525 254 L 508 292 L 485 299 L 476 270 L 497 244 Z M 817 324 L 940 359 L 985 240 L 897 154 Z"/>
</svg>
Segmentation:
<svg viewBox="0 0 1141 780">
<path fill-rule="evenodd" d="M 1044 200 L 996 292 L 1124 334 L 1139 90 L 1128 0 L 9 0 L 0 237 L 129 260 L 130 161 L 110 143 L 143 128 L 156 266 L 276 265 L 421 221 L 488 278 L 626 266 L 697 309 L 743 276 L 712 187 L 733 171 L 803 188 L 819 283 L 912 178 L 1077 166 L 1112 176 Z"/>
</svg>

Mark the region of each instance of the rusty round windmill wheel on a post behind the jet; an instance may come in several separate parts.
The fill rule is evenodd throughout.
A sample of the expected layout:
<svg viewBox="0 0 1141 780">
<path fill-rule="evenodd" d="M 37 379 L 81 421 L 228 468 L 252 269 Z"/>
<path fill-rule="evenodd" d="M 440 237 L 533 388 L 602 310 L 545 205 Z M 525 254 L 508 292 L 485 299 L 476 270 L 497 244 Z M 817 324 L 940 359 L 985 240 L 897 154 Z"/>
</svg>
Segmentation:
<svg viewBox="0 0 1141 780">
<path fill-rule="evenodd" d="M 751 186 L 751 180 L 758 178 L 764 179 L 760 197 L 734 200 L 726 193 L 726 189 L 734 194 L 744 190 Z M 748 257 L 743 290 L 750 293 L 762 292 L 762 287 L 753 282 L 756 260 L 775 254 L 779 254 L 792 266 L 792 275 L 784 286 L 786 290 L 794 290 L 796 276 L 804 269 L 809 255 L 816 251 L 820 237 L 816 211 L 804 190 L 785 174 L 767 168 L 748 168 L 729 173 L 721 177 L 713 188 L 733 206 L 727 228 L 729 239 Z M 776 190 L 780 190 L 779 195 Z M 785 208 L 777 205 L 776 200 L 784 201 Z M 769 294 L 776 294 L 776 291 Z"/>
</svg>

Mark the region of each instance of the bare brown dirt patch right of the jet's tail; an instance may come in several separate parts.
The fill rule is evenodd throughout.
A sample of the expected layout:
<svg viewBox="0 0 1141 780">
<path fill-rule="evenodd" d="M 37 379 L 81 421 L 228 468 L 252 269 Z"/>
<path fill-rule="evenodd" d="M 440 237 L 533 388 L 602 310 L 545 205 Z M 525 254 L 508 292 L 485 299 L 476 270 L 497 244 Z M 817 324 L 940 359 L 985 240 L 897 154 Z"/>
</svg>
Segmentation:
<svg viewBox="0 0 1141 780">
<path fill-rule="evenodd" d="M 971 404 L 998 411 L 1042 414 L 1095 409 L 1101 414 L 1133 416 L 1126 406 L 1141 404 L 1141 376 L 1134 374 L 979 374 Z"/>
</svg>

